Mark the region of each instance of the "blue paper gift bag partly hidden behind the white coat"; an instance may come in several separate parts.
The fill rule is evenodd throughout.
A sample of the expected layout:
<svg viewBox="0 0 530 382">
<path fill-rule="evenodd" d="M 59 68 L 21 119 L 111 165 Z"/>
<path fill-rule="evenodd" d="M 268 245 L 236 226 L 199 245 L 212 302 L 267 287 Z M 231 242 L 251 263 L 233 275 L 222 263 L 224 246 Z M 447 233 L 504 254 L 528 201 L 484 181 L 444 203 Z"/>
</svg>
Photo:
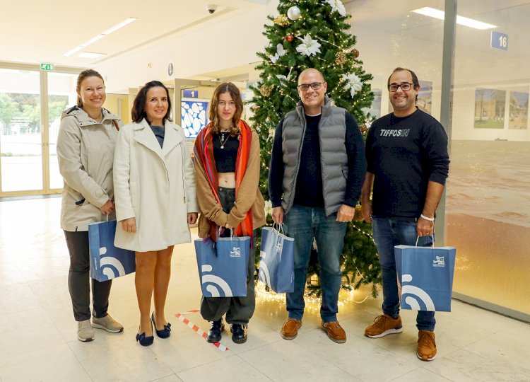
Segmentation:
<svg viewBox="0 0 530 382">
<path fill-rule="evenodd" d="M 104 282 L 136 270 L 134 251 L 114 247 L 116 221 L 88 224 L 90 277 Z"/>
</svg>

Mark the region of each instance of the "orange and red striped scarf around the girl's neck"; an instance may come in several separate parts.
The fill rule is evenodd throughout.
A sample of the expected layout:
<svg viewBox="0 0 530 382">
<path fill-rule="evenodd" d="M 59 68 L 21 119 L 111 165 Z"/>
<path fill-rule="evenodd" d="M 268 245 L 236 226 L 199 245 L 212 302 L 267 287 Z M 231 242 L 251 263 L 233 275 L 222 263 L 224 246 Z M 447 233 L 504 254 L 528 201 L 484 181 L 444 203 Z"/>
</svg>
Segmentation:
<svg viewBox="0 0 530 382">
<path fill-rule="evenodd" d="M 240 147 L 237 149 L 237 159 L 235 161 L 235 197 L 237 199 L 237 192 L 240 189 L 247 163 L 250 156 L 250 144 L 252 143 L 252 130 L 249 125 L 243 120 L 238 123 L 240 128 Z M 195 160 L 199 161 L 204 172 L 208 185 L 210 185 L 213 195 L 219 204 L 218 188 L 218 173 L 216 168 L 216 161 L 213 158 L 213 135 L 211 132 L 211 122 L 204 129 L 199 132 L 194 146 Z M 213 241 L 217 240 L 219 226 L 213 221 L 210 221 L 210 237 Z M 250 236 L 252 239 L 252 212 L 247 211 L 245 219 L 234 229 L 235 236 Z M 252 240 L 250 241 L 252 243 Z"/>
</svg>

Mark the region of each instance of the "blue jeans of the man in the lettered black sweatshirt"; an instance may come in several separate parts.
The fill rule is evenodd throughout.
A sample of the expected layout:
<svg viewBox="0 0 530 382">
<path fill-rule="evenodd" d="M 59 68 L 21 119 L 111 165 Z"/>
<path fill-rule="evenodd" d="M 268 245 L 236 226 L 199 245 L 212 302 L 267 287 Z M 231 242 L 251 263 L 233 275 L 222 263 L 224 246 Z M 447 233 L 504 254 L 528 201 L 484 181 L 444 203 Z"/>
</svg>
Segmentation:
<svg viewBox="0 0 530 382">
<path fill-rule="evenodd" d="M 372 218 L 374 241 L 379 253 L 379 263 L 383 279 L 383 313 L 391 318 L 399 316 L 399 291 L 396 273 L 395 245 L 416 245 L 416 221 L 398 219 Z M 418 246 L 430 247 L 431 236 L 420 237 Z M 435 330 L 435 312 L 418 311 L 416 328 L 418 330 Z"/>
</svg>

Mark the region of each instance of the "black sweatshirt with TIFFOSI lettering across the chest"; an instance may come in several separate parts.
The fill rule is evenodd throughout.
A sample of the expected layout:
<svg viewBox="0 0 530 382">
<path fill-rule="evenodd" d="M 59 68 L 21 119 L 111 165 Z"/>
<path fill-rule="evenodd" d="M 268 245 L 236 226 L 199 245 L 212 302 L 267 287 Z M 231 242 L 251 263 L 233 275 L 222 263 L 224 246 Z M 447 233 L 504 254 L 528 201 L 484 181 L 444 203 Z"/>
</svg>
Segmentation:
<svg viewBox="0 0 530 382">
<path fill-rule="evenodd" d="M 447 134 L 426 112 L 394 113 L 376 120 L 366 140 L 367 171 L 374 174 L 372 213 L 416 219 L 423 211 L 429 180 L 445 184 L 449 172 Z"/>
</svg>

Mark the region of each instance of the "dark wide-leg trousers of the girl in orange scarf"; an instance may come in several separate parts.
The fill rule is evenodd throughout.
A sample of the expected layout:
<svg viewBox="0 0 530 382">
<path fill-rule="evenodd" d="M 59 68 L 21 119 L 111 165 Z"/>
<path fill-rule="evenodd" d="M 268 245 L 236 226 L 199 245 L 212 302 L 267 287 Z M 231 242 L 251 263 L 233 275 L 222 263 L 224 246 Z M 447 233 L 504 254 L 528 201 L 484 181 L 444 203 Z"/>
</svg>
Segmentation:
<svg viewBox="0 0 530 382">
<path fill-rule="evenodd" d="M 227 214 L 235 203 L 235 188 L 218 188 L 218 195 Z M 230 231 L 221 234 L 230 237 Z M 254 270 L 256 257 L 256 230 L 254 230 L 254 243 L 249 253 L 249 264 L 247 271 L 247 296 L 245 297 L 203 297 L 201 299 L 201 315 L 205 320 L 217 321 L 226 314 L 227 323 L 247 325 L 256 308 L 256 296 L 254 295 Z"/>
</svg>

